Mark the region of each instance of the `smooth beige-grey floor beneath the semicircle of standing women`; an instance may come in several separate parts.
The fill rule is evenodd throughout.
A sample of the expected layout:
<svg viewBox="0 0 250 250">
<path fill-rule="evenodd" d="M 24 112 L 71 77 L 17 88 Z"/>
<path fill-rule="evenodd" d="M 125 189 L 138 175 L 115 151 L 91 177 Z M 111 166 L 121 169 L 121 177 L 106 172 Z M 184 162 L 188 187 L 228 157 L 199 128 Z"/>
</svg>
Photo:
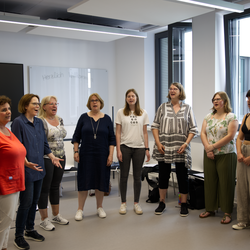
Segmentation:
<svg viewBox="0 0 250 250">
<path fill-rule="evenodd" d="M 63 197 L 60 201 L 60 214 L 69 220 L 69 225 L 55 225 L 54 231 L 39 227 L 40 215 L 37 213 L 35 229 L 45 237 L 44 242 L 28 241 L 34 250 L 221 250 L 250 249 L 250 230 L 232 230 L 236 221 L 236 208 L 233 222 L 221 225 L 223 213 L 206 219 L 198 217 L 201 211 L 190 210 L 187 217 L 180 217 L 178 197 L 169 189 L 167 210 L 163 215 L 155 215 L 157 204 L 146 203 L 148 186 L 142 185 L 141 207 L 143 215 L 133 211 L 132 177 L 128 184 L 128 212 L 118 213 L 117 177 L 112 180 L 111 195 L 104 198 L 103 207 L 107 218 L 96 215 L 95 197 L 88 197 L 84 209 L 84 219 L 74 220 L 77 210 L 77 191 L 74 177 L 63 178 Z M 51 214 L 51 211 L 50 211 Z M 14 225 L 14 224 L 13 224 Z M 8 250 L 17 249 L 13 244 L 14 229 L 11 229 Z"/>
</svg>

